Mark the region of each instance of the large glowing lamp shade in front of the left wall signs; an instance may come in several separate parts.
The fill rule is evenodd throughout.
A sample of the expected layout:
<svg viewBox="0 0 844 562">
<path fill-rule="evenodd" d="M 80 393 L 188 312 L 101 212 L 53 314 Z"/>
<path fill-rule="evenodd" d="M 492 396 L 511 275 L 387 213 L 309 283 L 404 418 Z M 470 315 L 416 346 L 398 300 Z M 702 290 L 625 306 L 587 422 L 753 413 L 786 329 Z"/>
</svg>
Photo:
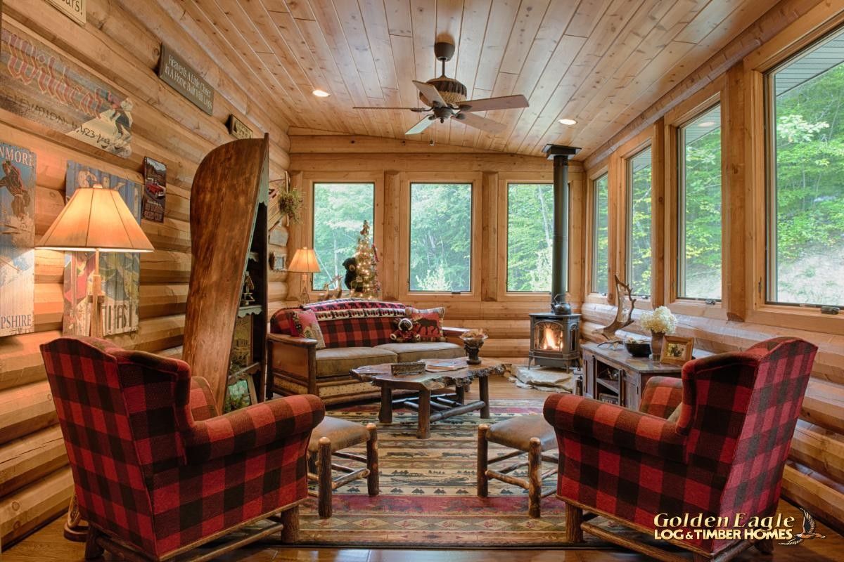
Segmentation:
<svg viewBox="0 0 844 562">
<path fill-rule="evenodd" d="M 117 190 L 82 187 L 41 238 L 38 248 L 70 251 L 151 252 L 138 221 Z"/>
</svg>

